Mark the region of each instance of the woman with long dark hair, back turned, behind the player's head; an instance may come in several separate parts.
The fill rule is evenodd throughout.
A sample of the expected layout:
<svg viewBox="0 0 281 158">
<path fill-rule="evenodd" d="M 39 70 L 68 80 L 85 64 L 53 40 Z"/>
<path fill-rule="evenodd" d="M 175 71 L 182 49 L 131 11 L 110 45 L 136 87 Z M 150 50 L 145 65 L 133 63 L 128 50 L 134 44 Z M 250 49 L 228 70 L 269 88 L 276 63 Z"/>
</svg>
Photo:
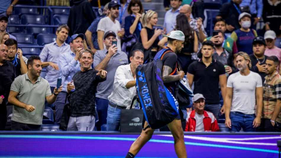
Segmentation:
<svg viewBox="0 0 281 158">
<path fill-rule="evenodd" d="M 175 30 L 183 31 L 185 35 L 184 47 L 181 52 L 177 54 L 177 62 L 186 74 L 188 66 L 192 62 L 191 53 L 198 51 L 198 37 L 196 32 L 190 27 L 188 18 L 184 14 L 177 15 Z M 167 42 L 168 38 L 163 37 L 158 45 L 164 48 Z"/>
</svg>

